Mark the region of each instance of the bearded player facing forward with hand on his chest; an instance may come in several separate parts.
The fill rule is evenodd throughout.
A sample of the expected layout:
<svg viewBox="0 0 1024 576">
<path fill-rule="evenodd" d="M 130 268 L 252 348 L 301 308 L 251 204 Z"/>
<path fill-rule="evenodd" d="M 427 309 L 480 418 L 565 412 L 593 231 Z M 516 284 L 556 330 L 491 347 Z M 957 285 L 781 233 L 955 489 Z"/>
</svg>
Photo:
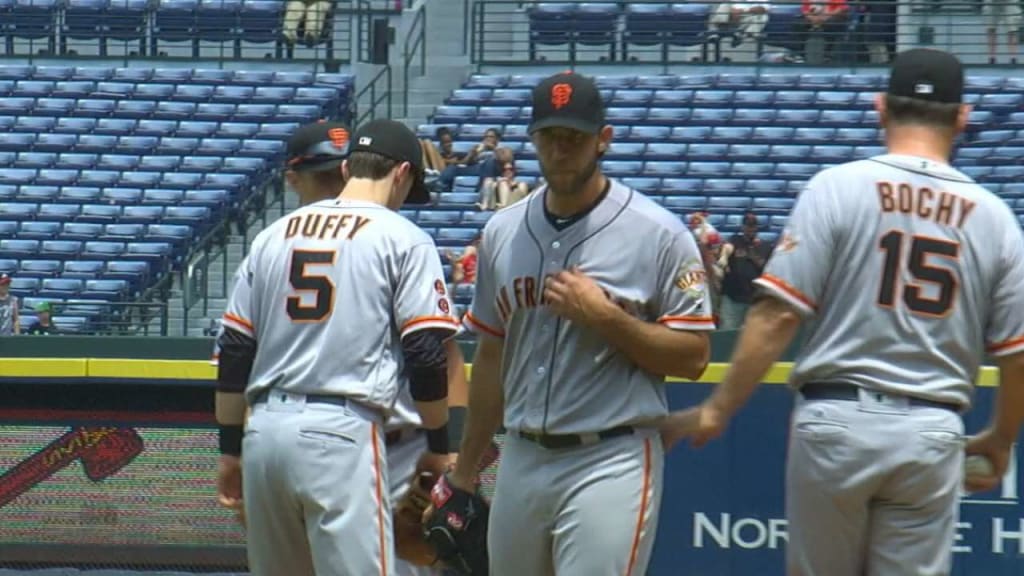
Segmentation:
<svg viewBox="0 0 1024 576">
<path fill-rule="evenodd" d="M 484 228 L 464 317 L 479 336 L 466 430 L 434 493 L 472 490 L 504 421 L 490 573 L 639 576 L 662 497 L 665 376 L 696 378 L 709 358 L 705 269 L 678 217 L 601 173 L 612 128 L 593 80 L 557 74 L 532 104 L 547 184 Z M 450 511 L 458 523 L 437 513 Z"/>
</svg>

